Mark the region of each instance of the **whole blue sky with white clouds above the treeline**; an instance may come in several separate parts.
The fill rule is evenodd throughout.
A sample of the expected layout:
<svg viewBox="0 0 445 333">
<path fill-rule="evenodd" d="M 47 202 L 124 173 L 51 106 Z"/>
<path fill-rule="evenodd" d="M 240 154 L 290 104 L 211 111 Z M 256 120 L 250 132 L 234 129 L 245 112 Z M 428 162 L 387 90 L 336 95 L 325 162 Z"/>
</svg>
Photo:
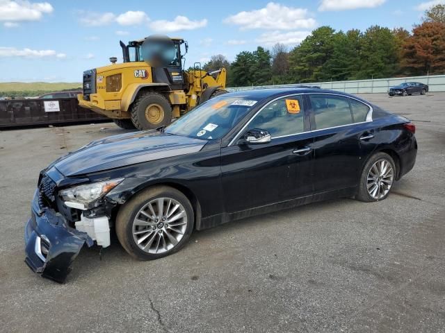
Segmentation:
<svg viewBox="0 0 445 333">
<path fill-rule="evenodd" d="M 121 60 L 119 40 L 154 33 L 188 40 L 186 67 L 221 53 L 295 46 L 317 26 L 407 30 L 445 0 L 10 1 L 0 0 L 0 81 L 80 82 L 86 69 Z"/>
</svg>

